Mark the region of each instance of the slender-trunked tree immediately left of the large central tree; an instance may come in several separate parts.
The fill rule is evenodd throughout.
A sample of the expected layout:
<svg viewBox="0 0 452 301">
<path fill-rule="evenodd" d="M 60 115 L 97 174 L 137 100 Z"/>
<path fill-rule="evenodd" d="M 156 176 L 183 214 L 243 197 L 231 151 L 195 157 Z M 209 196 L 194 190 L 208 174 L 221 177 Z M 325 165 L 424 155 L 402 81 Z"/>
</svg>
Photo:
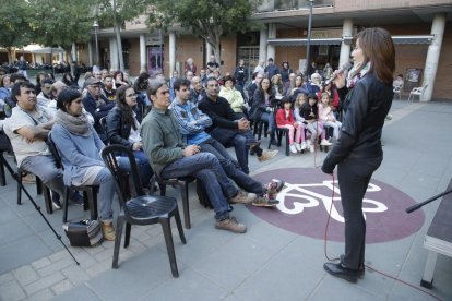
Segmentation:
<svg viewBox="0 0 452 301">
<path fill-rule="evenodd" d="M 105 26 L 112 26 L 119 53 L 119 70 L 124 70 L 120 29 L 126 21 L 131 21 L 145 12 L 150 0 L 98 0 L 98 17 Z"/>
</svg>

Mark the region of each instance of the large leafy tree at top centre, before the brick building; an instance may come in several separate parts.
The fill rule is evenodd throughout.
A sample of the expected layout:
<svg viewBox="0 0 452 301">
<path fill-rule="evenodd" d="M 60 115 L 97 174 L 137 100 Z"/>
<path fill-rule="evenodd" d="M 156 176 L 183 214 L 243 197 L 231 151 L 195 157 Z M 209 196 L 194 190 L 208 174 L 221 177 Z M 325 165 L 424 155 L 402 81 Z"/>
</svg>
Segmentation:
<svg viewBox="0 0 452 301">
<path fill-rule="evenodd" d="M 180 25 L 205 39 L 219 61 L 222 36 L 254 27 L 250 19 L 260 0 L 156 0 L 150 26 Z"/>
</svg>

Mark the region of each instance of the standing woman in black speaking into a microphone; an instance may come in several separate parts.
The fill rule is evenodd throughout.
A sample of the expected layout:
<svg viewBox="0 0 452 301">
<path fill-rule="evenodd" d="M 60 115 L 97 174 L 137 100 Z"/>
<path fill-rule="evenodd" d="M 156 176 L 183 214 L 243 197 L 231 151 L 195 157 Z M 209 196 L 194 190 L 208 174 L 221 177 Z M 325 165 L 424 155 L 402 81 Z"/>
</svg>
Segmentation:
<svg viewBox="0 0 452 301">
<path fill-rule="evenodd" d="M 366 220 L 362 198 L 372 173 L 383 160 L 381 131 L 392 99 L 395 50 L 391 35 L 367 28 L 356 36 L 354 67 L 347 79 L 335 72 L 345 112 L 338 140 L 323 161 L 322 171 L 337 178 L 345 219 L 345 253 L 340 263 L 325 263 L 332 276 L 356 282 L 364 275 Z"/>
</svg>

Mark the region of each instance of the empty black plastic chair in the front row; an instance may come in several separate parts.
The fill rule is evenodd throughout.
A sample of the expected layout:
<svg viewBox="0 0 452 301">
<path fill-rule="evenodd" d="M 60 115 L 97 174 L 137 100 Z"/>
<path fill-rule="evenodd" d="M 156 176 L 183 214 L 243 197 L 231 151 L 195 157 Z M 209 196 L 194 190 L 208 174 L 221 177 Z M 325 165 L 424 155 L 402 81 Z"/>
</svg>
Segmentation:
<svg viewBox="0 0 452 301">
<path fill-rule="evenodd" d="M 116 154 L 127 155 L 130 164 L 130 176 L 132 177 L 131 181 L 128 181 L 129 174 L 120 170 Z M 112 268 L 118 268 L 119 248 L 121 244 L 122 228 L 124 222 L 124 248 L 129 246 L 131 225 L 153 225 L 158 222 L 162 225 L 165 236 L 173 277 L 179 277 L 170 226 L 170 218 L 173 216 L 176 219 L 180 240 L 183 244 L 187 243 L 187 241 L 183 236 L 182 222 L 180 221 L 176 198 L 168 196 L 146 195 L 144 193 L 138 172 L 135 157 L 128 147 L 122 145 L 109 145 L 102 150 L 100 155 L 115 179 L 115 186 L 121 205 L 121 212 L 119 213 L 116 226 Z M 135 195 L 127 200 L 127 196 L 132 195 L 132 192 L 134 192 Z"/>
</svg>

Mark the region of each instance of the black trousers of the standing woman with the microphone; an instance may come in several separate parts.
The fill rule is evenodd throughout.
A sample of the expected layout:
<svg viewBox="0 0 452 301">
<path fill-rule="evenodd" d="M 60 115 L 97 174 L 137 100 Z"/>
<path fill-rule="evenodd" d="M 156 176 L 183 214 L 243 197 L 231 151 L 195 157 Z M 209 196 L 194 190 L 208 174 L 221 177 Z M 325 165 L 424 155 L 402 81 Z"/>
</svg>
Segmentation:
<svg viewBox="0 0 452 301">
<path fill-rule="evenodd" d="M 366 220 L 362 215 L 362 198 L 373 171 L 383 157 L 369 159 L 345 159 L 337 165 L 342 207 L 345 219 L 345 256 L 343 264 L 358 269 L 365 262 Z"/>
</svg>

